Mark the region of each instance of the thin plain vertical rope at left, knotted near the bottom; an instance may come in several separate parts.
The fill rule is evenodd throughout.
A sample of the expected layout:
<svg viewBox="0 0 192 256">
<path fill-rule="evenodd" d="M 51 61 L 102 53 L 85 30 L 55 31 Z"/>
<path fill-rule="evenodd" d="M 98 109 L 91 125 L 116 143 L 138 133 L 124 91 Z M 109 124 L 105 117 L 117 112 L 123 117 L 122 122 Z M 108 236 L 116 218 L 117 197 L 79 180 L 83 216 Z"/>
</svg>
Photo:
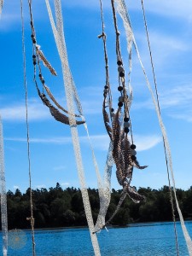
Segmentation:
<svg viewBox="0 0 192 256">
<path fill-rule="evenodd" d="M 31 2 L 29 1 L 30 11 Z M 30 139 L 29 139 L 29 123 L 28 123 L 28 101 L 27 101 L 27 84 L 26 84 L 26 48 L 25 48 L 25 30 L 23 19 L 23 1 L 20 0 L 20 15 L 22 25 L 22 51 L 23 51 L 23 71 L 24 71 L 24 88 L 26 99 L 26 139 L 27 139 L 27 159 L 28 159 L 28 174 L 29 174 L 29 189 L 30 189 L 30 210 L 31 210 L 31 230 L 32 230 L 32 255 L 35 256 L 35 232 L 34 232 L 34 218 L 33 218 L 33 205 L 32 205 L 32 173 L 31 173 L 31 159 L 30 159 Z"/>
</svg>

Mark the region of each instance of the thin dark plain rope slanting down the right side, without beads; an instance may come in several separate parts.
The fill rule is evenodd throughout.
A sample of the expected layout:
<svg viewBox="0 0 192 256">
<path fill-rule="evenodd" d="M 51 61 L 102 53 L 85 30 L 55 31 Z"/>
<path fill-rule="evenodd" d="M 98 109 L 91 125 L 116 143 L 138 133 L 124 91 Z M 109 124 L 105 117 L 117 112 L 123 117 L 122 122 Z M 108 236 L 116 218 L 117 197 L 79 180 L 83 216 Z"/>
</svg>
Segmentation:
<svg viewBox="0 0 192 256">
<path fill-rule="evenodd" d="M 152 73 L 153 73 L 153 77 L 154 77 L 155 95 L 156 95 L 157 105 L 158 105 L 159 112 L 160 112 L 160 101 L 159 101 L 159 94 L 158 94 L 158 89 L 157 89 L 157 81 L 156 81 L 156 77 L 155 77 L 155 73 L 154 73 L 154 61 L 153 61 L 153 56 L 152 56 L 152 50 L 151 50 L 151 45 L 150 45 L 150 40 L 149 40 L 149 35 L 148 35 L 148 24 L 147 24 L 147 19 L 146 19 L 146 15 L 145 15 L 144 3 L 143 3 L 143 0 L 141 0 L 141 1 L 142 1 L 142 9 L 143 9 L 144 26 L 145 26 L 146 36 L 147 36 L 147 40 L 148 40 L 148 50 L 149 50 L 149 55 L 150 55 L 150 62 L 151 62 Z M 173 205 L 172 186 L 171 186 L 171 180 L 170 180 L 170 175 L 169 175 L 169 166 L 168 166 L 168 160 L 167 160 L 167 154 L 166 154 L 166 143 L 165 143 L 164 137 L 163 137 L 163 146 L 164 146 L 164 153 L 165 153 L 165 157 L 166 157 L 166 172 L 167 172 L 168 183 L 169 183 L 170 201 L 171 201 L 171 207 L 172 207 L 172 220 L 173 220 L 173 224 L 174 224 L 176 250 L 177 250 L 177 256 L 178 256 L 179 249 L 178 249 L 178 240 L 177 240 L 175 209 L 174 209 L 174 205 Z"/>
</svg>

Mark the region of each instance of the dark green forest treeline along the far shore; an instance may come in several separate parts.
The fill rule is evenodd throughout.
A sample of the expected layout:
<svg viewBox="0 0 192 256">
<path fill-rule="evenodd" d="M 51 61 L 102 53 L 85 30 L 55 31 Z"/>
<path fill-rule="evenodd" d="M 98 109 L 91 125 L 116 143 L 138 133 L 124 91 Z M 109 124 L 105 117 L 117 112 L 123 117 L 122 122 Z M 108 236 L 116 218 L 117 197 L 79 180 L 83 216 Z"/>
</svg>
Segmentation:
<svg viewBox="0 0 192 256">
<path fill-rule="evenodd" d="M 99 212 L 99 196 L 97 189 L 88 189 L 90 205 L 94 221 Z M 108 207 L 107 220 L 113 214 L 122 190 L 112 189 L 111 202 Z M 146 201 L 134 203 L 126 196 L 119 212 L 113 218 L 112 225 L 125 226 L 136 222 L 158 222 L 172 220 L 169 187 L 161 189 L 139 188 L 139 194 L 145 195 Z M 80 189 L 62 189 L 60 183 L 55 188 L 33 189 L 33 214 L 35 228 L 56 228 L 87 225 Z M 184 219 L 192 218 L 192 186 L 188 190 L 177 189 L 177 199 Z M 22 194 L 19 189 L 15 193 L 7 193 L 8 223 L 10 229 L 30 228 L 30 189 Z M 175 204 L 175 202 L 174 202 Z M 175 211 L 176 219 L 178 218 Z"/>
</svg>

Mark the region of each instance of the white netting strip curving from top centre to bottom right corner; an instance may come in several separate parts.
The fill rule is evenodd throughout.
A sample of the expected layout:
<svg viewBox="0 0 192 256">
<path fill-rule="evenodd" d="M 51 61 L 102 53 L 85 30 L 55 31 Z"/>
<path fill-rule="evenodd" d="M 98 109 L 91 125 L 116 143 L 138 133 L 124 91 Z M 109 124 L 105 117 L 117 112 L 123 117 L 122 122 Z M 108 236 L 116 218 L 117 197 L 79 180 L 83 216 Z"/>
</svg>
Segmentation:
<svg viewBox="0 0 192 256">
<path fill-rule="evenodd" d="M 126 8 L 125 8 L 124 0 L 115 0 L 115 1 L 117 3 L 117 10 L 119 11 L 119 15 L 121 16 L 121 18 L 123 20 L 123 23 L 124 23 L 124 26 L 125 26 L 125 30 L 130 30 L 130 28 L 131 28 L 131 21 L 129 19 L 129 16 L 127 15 L 127 11 L 126 11 Z M 170 145 L 169 145 L 169 142 L 168 142 L 168 137 L 166 135 L 166 128 L 165 128 L 165 125 L 163 124 L 163 120 L 162 120 L 162 118 L 160 116 L 160 110 L 159 110 L 158 104 L 157 104 L 157 102 L 155 100 L 154 92 L 153 92 L 153 90 L 151 88 L 151 85 L 150 85 L 150 83 L 148 81 L 147 74 L 146 74 L 145 69 L 143 67 L 143 62 L 142 62 L 141 56 L 139 54 L 139 51 L 138 51 L 138 48 L 137 48 L 137 43 L 136 43 L 136 40 L 135 40 L 135 37 L 134 37 L 133 33 L 132 33 L 132 39 L 133 39 L 134 47 L 135 47 L 136 52 L 137 52 L 138 60 L 139 60 L 139 62 L 141 64 L 141 67 L 143 69 L 143 73 L 144 73 L 144 77 L 146 79 L 148 90 L 149 90 L 149 92 L 151 94 L 151 97 L 152 97 L 152 100 L 154 102 L 154 108 L 156 110 L 157 117 L 159 119 L 160 129 L 161 129 L 164 141 L 165 141 L 166 153 L 167 153 L 167 156 L 168 156 L 169 168 L 170 168 L 170 171 L 171 171 L 172 185 L 173 185 L 173 191 L 174 191 L 174 196 L 175 196 L 175 201 L 176 201 L 176 206 L 177 206 L 177 212 L 178 212 L 178 215 L 179 215 L 179 218 L 180 218 L 180 222 L 181 222 L 181 226 L 182 226 L 182 230 L 183 230 L 183 235 L 184 235 L 187 247 L 188 247 L 189 255 L 192 256 L 192 241 L 191 241 L 191 238 L 189 236 L 188 230 L 186 229 L 186 226 L 184 224 L 183 215 L 182 215 L 181 209 L 180 209 L 178 201 L 177 201 L 175 179 L 174 179 L 174 173 L 173 173 L 173 167 L 172 167 L 172 153 L 171 153 L 171 148 L 170 148 Z M 127 38 L 127 40 L 128 40 L 128 38 Z"/>
</svg>

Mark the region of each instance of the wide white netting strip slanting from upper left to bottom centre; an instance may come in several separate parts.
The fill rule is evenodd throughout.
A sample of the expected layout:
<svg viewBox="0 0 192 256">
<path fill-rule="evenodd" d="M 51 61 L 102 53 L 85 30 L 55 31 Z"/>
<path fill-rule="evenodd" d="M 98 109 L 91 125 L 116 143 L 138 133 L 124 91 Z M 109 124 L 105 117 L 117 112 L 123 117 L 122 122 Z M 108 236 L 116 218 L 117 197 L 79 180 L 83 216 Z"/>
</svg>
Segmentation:
<svg viewBox="0 0 192 256">
<path fill-rule="evenodd" d="M 63 80 L 64 80 L 64 86 L 65 86 L 66 98 L 67 98 L 67 108 L 69 113 L 74 114 L 74 109 L 75 109 L 74 102 L 73 102 L 74 83 L 73 83 L 73 78 L 72 78 L 70 68 L 68 65 L 68 60 L 67 60 L 67 49 L 66 49 L 66 43 L 64 38 L 63 21 L 62 21 L 62 13 L 61 13 L 61 1 L 55 0 L 54 2 L 56 27 L 55 27 L 55 22 L 53 20 L 52 13 L 51 13 L 51 9 L 49 7 L 49 1 L 48 0 L 45 0 L 45 1 L 46 1 L 48 12 L 49 12 L 50 23 L 55 35 L 55 42 L 57 44 L 57 49 L 61 58 Z M 85 184 L 84 166 L 82 162 L 82 156 L 81 156 L 81 150 L 80 150 L 80 144 L 79 144 L 79 134 L 76 127 L 75 119 L 72 115 L 69 115 L 69 122 L 71 126 L 75 159 L 76 159 L 76 164 L 77 164 L 78 173 L 79 173 L 79 183 L 80 183 L 81 193 L 84 201 L 84 211 L 85 211 L 87 222 L 90 229 L 90 237 L 91 237 L 95 255 L 101 255 L 97 237 L 96 237 L 96 234 L 94 234 L 94 223 L 93 223 L 93 218 L 92 218 L 92 213 L 90 208 L 89 195 L 88 195 L 88 191 L 86 189 L 86 184 Z"/>
</svg>

